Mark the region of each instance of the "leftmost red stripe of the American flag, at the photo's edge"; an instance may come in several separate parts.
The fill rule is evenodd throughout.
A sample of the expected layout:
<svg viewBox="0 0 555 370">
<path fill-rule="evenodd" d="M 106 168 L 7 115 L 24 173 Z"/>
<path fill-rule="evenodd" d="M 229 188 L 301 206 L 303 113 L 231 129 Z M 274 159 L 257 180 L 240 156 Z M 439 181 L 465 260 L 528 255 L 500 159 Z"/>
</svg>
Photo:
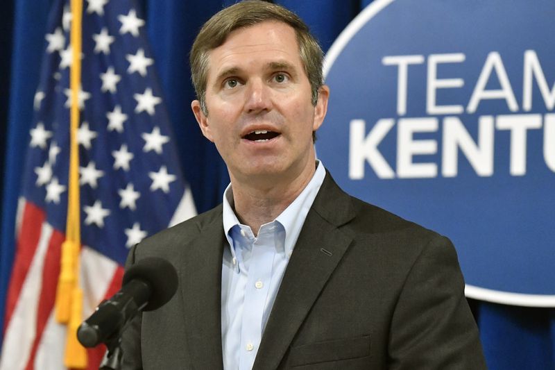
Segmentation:
<svg viewBox="0 0 555 370">
<path fill-rule="evenodd" d="M 6 315 L 4 317 L 4 333 L 10 323 L 15 305 L 22 291 L 22 286 L 33 261 L 40 239 L 40 231 L 44 222 L 44 212 L 33 203 L 25 202 L 22 226 L 17 240 L 10 286 L 6 296 Z"/>
</svg>

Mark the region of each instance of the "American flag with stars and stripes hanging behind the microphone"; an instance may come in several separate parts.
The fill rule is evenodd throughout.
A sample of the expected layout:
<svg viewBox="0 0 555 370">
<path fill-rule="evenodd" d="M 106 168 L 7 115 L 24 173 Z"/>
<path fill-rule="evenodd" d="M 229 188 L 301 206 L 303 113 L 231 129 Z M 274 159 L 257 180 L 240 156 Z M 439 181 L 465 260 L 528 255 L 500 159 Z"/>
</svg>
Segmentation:
<svg viewBox="0 0 555 370">
<path fill-rule="evenodd" d="M 69 0 L 53 1 L 17 214 L 0 370 L 65 369 L 54 319 L 69 171 Z M 134 1 L 83 7 L 79 185 L 83 319 L 119 289 L 128 248 L 196 211 Z M 98 369 L 101 351 L 89 351 Z"/>
</svg>

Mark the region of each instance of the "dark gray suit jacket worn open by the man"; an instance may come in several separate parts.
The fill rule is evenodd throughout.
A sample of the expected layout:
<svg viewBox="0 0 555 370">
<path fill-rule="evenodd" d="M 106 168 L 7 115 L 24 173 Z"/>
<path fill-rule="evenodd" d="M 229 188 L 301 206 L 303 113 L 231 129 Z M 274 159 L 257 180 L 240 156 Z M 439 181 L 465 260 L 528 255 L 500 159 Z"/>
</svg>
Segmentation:
<svg viewBox="0 0 555 370">
<path fill-rule="evenodd" d="M 178 292 L 123 335 L 126 369 L 222 369 L 222 207 L 145 239 Z M 486 369 L 451 242 L 345 194 L 330 174 L 307 215 L 253 369 Z"/>
</svg>

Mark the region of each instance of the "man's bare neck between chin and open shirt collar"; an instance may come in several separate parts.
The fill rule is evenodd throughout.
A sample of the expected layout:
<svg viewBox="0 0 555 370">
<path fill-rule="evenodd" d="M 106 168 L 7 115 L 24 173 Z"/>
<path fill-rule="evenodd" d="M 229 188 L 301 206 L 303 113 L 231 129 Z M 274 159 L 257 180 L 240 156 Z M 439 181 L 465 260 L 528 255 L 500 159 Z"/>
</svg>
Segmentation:
<svg viewBox="0 0 555 370">
<path fill-rule="evenodd" d="M 266 185 L 232 178 L 235 215 L 257 235 L 260 226 L 273 221 L 293 203 L 314 176 L 314 171 L 313 165 L 296 178 Z"/>
</svg>

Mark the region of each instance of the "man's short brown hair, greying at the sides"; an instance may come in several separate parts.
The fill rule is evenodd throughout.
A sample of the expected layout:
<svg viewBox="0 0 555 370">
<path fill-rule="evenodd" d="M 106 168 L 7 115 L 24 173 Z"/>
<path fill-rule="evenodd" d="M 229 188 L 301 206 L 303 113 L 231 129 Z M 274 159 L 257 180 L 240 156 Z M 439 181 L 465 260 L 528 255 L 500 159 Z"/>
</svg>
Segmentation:
<svg viewBox="0 0 555 370">
<path fill-rule="evenodd" d="M 323 52 L 318 41 L 311 35 L 305 22 L 302 22 L 302 19 L 290 10 L 266 1 L 246 0 L 220 10 L 208 19 L 200 28 L 191 48 L 189 56 L 191 78 L 197 99 L 200 101 L 200 108 L 205 115 L 208 114 L 205 101 L 209 67 L 208 53 L 221 46 L 232 31 L 268 21 L 289 24 L 295 30 L 300 59 L 311 87 L 312 104 L 316 106 L 318 90 L 323 85 Z"/>
</svg>

